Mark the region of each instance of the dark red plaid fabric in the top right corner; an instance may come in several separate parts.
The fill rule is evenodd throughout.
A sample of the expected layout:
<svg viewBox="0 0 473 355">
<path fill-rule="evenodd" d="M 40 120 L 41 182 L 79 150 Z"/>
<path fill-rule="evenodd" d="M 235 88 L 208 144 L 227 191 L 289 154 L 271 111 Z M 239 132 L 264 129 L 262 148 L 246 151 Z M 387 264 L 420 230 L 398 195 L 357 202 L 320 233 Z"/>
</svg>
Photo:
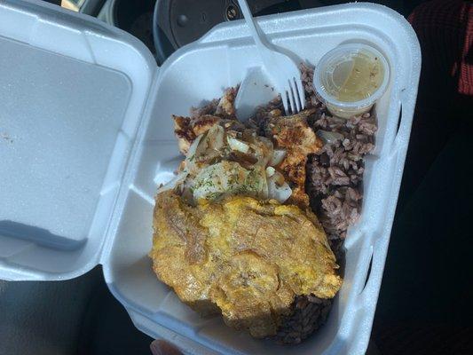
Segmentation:
<svg viewBox="0 0 473 355">
<path fill-rule="evenodd" d="M 449 75 L 458 93 L 473 96 L 473 3 L 433 0 L 409 16 L 422 46 L 423 63 Z"/>
</svg>

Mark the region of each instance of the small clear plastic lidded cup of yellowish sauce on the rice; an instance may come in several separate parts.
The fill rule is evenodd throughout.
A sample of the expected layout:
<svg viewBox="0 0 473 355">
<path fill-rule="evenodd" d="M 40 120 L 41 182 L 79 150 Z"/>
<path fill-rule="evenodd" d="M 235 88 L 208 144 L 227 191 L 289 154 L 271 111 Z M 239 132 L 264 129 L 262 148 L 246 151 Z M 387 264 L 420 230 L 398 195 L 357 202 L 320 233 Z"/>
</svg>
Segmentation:
<svg viewBox="0 0 473 355">
<path fill-rule="evenodd" d="M 328 51 L 315 68 L 313 85 L 337 117 L 364 114 L 386 91 L 390 79 L 388 61 L 367 44 L 342 44 Z"/>
</svg>

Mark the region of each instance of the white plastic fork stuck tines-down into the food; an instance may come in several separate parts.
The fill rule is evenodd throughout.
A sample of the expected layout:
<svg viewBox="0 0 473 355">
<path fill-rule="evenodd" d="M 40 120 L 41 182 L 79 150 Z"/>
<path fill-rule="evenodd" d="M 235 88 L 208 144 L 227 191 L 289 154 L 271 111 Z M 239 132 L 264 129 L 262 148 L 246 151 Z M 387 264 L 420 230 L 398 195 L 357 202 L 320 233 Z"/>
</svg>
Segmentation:
<svg viewBox="0 0 473 355">
<path fill-rule="evenodd" d="M 253 15 L 249 11 L 246 0 L 238 0 L 243 17 L 247 22 L 251 36 L 256 43 L 256 49 L 263 61 L 266 74 L 271 76 L 272 83 L 280 93 L 282 105 L 286 114 L 297 114 L 304 109 L 305 96 L 301 72 L 293 59 L 286 54 L 272 48 L 271 43 L 266 43 L 261 36 Z"/>
</svg>

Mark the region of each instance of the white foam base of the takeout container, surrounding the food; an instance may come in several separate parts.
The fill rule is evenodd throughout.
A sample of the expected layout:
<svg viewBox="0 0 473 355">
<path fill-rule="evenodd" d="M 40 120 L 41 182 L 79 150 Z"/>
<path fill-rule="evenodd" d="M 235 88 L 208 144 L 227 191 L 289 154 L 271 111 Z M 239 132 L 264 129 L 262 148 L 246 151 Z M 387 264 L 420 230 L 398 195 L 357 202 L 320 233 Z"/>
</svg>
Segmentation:
<svg viewBox="0 0 473 355">
<path fill-rule="evenodd" d="M 252 39 L 241 22 L 214 28 L 199 42 L 174 53 L 161 68 L 134 146 L 127 189 L 119 200 L 122 209 L 114 216 L 116 232 L 104 263 L 106 281 L 137 327 L 148 335 L 167 337 L 175 333 L 179 335 L 177 345 L 180 336 L 190 344 L 200 344 L 193 347 L 182 343 L 188 353 L 205 353 L 204 346 L 228 354 L 361 354 L 367 349 L 371 332 L 381 284 L 380 260 L 387 250 L 414 112 L 420 70 L 418 43 L 398 13 L 373 4 L 292 12 L 258 22 L 272 43 L 311 65 L 316 65 L 325 52 L 347 42 L 370 43 L 390 59 L 390 84 L 376 106 L 378 133 L 374 153 L 367 156 L 362 214 L 344 243 L 343 287 L 335 297 L 327 324 L 298 345 L 280 346 L 253 339 L 245 331 L 226 327 L 218 317 L 203 319 L 182 304 L 156 279 L 147 256 L 152 247 L 157 185 L 172 177 L 182 158 L 171 114 L 186 115 L 192 106 L 220 97 L 225 88 L 240 83 L 249 68 L 260 66 Z M 403 96 L 406 91 L 407 97 Z M 401 100 L 403 122 L 398 132 Z M 374 252 L 377 265 L 367 278 Z M 160 334 L 162 327 L 167 335 Z"/>
</svg>

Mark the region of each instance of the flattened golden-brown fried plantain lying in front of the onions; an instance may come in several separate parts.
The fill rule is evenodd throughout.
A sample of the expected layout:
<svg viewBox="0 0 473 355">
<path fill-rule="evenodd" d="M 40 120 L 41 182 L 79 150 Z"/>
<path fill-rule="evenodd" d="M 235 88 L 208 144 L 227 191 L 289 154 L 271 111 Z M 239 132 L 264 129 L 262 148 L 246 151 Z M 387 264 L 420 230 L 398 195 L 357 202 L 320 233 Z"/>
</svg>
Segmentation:
<svg viewBox="0 0 473 355">
<path fill-rule="evenodd" d="M 315 215 L 245 196 L 191 207 L 158 194 L 150 256 L 185 304 L 256 337 L 276 333 L 296 295 L 331 298 L 342 283 Z"/>
</svg>

